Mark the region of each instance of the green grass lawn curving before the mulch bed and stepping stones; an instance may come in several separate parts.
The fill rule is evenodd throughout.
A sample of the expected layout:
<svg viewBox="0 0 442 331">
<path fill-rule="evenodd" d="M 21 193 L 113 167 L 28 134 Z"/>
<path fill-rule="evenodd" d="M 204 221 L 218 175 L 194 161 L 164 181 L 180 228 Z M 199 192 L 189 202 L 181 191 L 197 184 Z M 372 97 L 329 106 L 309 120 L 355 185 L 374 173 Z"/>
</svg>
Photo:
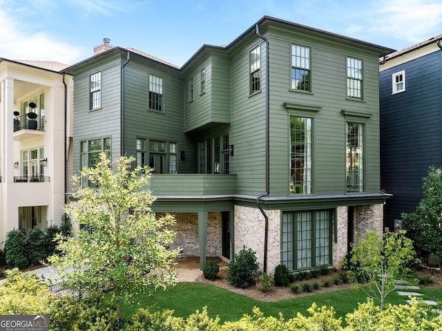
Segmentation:
<svg viewBox="0 0 442 331">
<path fill-rule="evenodd" d="M 425 294 L 425 299 L 442 301 L 442 289 L 423 287 L 419 292 Z M 404 304 L 406 299 L 396 292 L 392 292 L 387 296 L 386 303 L 399 305 Z M 148 308 L 151 312 L 175 310 L 175 316 L 186 318 L 206 306 L 209 316 L 215 318 L 218 315 L 221 322 L 224 322 L 237 321 L 243 314 L 251 314 L 253 307 L 259 307 L 267 316 L 278 316 L 280 312 L 285 316 L 285 319 L 296 316 L 297 312 L 307 316 L 307 308 L 311 306 L 311 303 L 316 303 L 318 306 L 334 307 L 336 316 L 344 318 L 345 314 L 358 308 L 358 303 L 367 301 L 367 296 L 363 290 L 349 288 L 300 296 L 295 299 L 265 302 L 205 283 L 177 283 L 175 287 L 171 287 L 167 291 L 158 291 L 153 298 L 140 296 L 139 300 L 140 305 L 126 307 L 124 314 L 129 316 L 138 308 Z"/>
</svg>

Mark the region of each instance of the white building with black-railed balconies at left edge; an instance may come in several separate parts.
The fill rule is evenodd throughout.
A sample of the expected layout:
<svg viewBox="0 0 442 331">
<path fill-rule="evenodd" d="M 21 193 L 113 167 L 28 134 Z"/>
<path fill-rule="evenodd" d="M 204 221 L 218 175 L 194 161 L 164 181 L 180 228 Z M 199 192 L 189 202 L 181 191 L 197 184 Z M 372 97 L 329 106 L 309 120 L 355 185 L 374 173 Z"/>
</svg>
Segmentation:
<svg viewBox="0 0 442 331">
<path fill-rule="evenodd" d="M 61 224 L 72 137 L 66 66 L 0 59 L 0 248 L 12 229 Z"/>
</svg>

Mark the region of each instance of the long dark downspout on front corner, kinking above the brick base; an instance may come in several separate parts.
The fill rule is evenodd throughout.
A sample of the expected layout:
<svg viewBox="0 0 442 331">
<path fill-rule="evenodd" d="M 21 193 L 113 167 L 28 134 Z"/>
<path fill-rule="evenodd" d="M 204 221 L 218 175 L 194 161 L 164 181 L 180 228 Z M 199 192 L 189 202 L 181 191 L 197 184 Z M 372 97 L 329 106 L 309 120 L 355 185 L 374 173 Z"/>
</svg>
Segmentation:
<svg viewBox="0 0 442 331">
<path fill-rule="evenodd" d="M 262 269 L 264 272 L 267 272 L 267 243 L 269 241 L 269 216 L 265 214 L 264 209 L 262 209 L 262 206 L 260 204 L 260 200 L 262 198 L 265 198 L 266 196 L 269 196 L 269 190 L 270 190 L 270 171 L 269 171 L 269 120 L 270 120 L 270 103 L 269 103 L 269 95 L 270 95 L 270 77 L 269 77 L 269 39 L 263 37 L 260 34 L 260 28 L 258 24 L 256 24 L 256 35 L 260 37 L 262 40 L 265 41 L 265 55 L 266 55 L 266 61 L 265 61 L 265 193 L 262 193 L 260 196 L 256 198 L 256 205 L 261 211 L 262 216 L 264 216 L 265 219 L 265 230 L 264 230 L 264 264 L 262 265 Z"/>
</svg>

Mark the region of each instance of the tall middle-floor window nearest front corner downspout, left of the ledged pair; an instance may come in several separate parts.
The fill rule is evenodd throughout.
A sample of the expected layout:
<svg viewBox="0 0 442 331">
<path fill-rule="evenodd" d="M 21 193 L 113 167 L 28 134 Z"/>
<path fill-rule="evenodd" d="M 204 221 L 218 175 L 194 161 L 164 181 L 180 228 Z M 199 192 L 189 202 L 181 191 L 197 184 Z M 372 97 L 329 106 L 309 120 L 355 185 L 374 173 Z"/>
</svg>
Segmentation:
<svg viewBox="0 0 442 331">
<path fill-rule="evenodd" d="M 290 117 L 290 193 L 311 193 L 311 122 Z"/>
</svg>

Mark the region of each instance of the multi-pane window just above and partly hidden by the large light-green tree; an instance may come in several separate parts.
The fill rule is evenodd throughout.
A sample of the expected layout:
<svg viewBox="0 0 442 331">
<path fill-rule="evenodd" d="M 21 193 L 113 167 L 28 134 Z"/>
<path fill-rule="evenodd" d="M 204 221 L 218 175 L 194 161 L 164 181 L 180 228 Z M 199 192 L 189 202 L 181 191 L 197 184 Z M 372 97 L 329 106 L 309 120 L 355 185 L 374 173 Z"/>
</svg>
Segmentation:
<svg viewBox="0 0 442 331">
<path fill-rule="evenodd" d="M 80 142 L 80 169 L 94 167 L 99 162 L 99 154 L 106 153 L 111 157 L 111 138 L 99 138 Z M 81 178 L 81 185 L 88 185 L 87 178 Z"/>
</svg>

